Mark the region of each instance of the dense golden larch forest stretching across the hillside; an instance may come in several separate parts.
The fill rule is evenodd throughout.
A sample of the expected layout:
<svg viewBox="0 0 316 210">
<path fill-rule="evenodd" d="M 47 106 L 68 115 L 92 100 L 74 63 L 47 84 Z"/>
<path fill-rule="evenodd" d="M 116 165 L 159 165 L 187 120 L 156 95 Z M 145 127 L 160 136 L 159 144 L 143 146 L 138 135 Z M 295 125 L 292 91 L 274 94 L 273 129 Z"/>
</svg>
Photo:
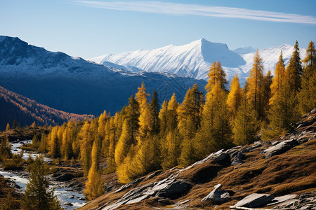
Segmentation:
<svg viewBox="0 0 316 210">
<path fill-rule="evenodd" d="M 291 123 L 316 107 L 315 45 L 310 41 L 301 59 L 298 42 L 287 66 L 282 52 L 275 75 L 263 73 L 258 50 L 246 83 L 234 76 L 230 90 L 220 62 L 213 62 L 204 87 L 187 90 L 183 102 L 173 94 L 160 107 L 157 91 L 145 84 L 129 105 L 112 116 L 64 123 L 33 141 L 40 153 L 79 161 L 84 169 L 88 200 L 103 195 L 101 174 L 117 173 L 129 183 L 157 169 L 185 167 L 222 148 L 268 140 L 291 130 Z M 106 167 L 101 167 L 101 160 Z"/>
</svg>

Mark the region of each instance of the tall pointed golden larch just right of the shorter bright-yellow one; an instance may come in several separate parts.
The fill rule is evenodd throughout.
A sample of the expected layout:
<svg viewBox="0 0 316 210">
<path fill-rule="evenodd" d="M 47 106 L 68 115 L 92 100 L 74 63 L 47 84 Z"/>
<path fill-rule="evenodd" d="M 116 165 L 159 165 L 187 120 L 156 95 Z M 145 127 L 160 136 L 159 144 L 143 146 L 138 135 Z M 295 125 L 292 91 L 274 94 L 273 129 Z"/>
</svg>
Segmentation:
<svg viewBox="0 0 316 210">
<path fill-rule="evenodd" d="M 263 118 L 263 62 L 259 55 L 259 50 L 254 55 L 254 64 L 247 78 L 249 90 L 247 100 L 254 110 L 258 113 L 258 118 Z"/>
</svg>

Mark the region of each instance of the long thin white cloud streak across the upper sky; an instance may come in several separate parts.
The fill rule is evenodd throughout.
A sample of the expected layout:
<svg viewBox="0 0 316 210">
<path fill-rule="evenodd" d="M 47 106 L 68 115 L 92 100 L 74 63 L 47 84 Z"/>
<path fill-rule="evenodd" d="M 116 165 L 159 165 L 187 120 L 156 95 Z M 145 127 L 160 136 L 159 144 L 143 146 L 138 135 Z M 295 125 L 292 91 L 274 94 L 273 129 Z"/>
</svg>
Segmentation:
<svg viewBox="0 0 316 210">
<path fill-rule="evenodd" d="M 249 10 L 246 8 L 232 8 L 223 6 L 201 6 L 185 3 L 164 3 L 159 1 L 129 1 L 129 2 L 103 2 L 103 1 L 74 1 L 84 6 L 105 8 L 111 10 L 129 10 L 143 13 L 159 13 L 168 15 L 199 15 L 219 18 L 240 18 L 261 20 L 269 22 L 291 22 L 303 24 L 316 24 L 316 18 L 308 15 L 291 13 L 275 13 L 264 10 Z"/>
</svg>

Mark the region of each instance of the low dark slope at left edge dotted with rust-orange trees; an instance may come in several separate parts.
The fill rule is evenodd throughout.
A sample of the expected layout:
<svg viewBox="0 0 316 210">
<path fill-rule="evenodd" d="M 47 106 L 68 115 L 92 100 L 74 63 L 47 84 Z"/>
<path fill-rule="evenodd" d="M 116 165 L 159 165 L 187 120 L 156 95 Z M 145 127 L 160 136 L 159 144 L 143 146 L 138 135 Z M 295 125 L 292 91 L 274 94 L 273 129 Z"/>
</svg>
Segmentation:
<svg viewBox="0 0 316 210">
<path fill-rule="evenodd" d="M 93 118 L 91 115 L 78 115 L 52 109 L 1 86 L 0 110 L 0 130 L 6 129 L 6 123 L 10 123 L 12 126 L 14 119 L 24 126 L 31 125 L 34 121 L 37 125 L 60 125 L 69 120 Z"/>
</svg>

